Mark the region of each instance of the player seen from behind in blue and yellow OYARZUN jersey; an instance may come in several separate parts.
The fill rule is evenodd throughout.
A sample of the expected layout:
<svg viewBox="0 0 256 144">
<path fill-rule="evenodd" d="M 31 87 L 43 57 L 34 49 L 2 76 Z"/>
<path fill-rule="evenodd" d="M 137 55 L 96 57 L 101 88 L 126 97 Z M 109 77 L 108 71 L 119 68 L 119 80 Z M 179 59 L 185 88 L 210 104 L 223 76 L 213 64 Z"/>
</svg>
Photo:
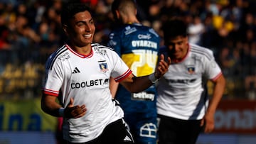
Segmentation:
<svg viewBox="0 0 256 144">
<path fill-rule="evenodd" d="M 159 35 L 148 26 L 139 23 L 137 6 L 133 0 L 115 0 L 112 13 L 121 25 L 110 33 L 108 46 L 141 77 L 154 72 L 158 59 Z M 124 109 L 124 119 L 134 135 L 135 143 L 156 143 L 156 89 L 153 86 L 143 92 L 131 93 L 115 82 L 110 82 L 111 92 Z"/>
</svg>

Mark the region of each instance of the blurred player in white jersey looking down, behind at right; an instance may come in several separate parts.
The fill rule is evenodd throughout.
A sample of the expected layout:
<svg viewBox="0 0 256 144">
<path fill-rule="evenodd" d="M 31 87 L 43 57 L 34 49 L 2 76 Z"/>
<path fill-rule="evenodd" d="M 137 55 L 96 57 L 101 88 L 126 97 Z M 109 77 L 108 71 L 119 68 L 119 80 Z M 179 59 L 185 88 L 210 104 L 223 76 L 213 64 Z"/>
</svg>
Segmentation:
<svg viewBox="0 0 256 144">
<path fill-rule="evenodd" d="M 201 131 L 213 131 L 225 78 L 211 50 L 188 43 L 186 23 L 172 19 L 162 30 L 165 48 L 159 54 L 171 57 L 171 65 L 156 86 L 159 144 L 194 144 Z M 210 101 L 207 80 L 215 85 Z"/>
</svg>

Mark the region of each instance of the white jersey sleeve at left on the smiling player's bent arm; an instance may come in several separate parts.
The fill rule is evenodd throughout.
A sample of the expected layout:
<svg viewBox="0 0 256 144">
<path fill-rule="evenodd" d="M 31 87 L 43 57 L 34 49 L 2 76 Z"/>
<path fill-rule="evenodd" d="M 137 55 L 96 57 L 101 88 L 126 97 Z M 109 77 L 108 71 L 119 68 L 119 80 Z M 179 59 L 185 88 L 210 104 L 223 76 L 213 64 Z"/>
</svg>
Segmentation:
<svg viewBox="0 0 256 144">
<path fill-rule="evenodd" d="M 63 83 L 63 66 L 59 61 L 46 62 L 46 77 L 43 84 L 43 93 L 53 96 L 58 96 L 60 87 Z"/>
</svg>

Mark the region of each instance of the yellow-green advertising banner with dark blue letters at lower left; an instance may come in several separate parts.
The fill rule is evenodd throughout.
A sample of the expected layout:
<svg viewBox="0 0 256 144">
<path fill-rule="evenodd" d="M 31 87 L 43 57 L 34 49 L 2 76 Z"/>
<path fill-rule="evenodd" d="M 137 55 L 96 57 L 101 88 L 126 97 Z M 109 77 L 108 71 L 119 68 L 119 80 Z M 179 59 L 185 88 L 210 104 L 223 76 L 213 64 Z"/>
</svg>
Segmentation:
<svg viewBox="0 0 256 144">
<path fill-rule="evenodd" d="M 0 131 L 55 131 L 57 118 L 41 110 L 41 99 L 0 101 Z"/>
</svg>

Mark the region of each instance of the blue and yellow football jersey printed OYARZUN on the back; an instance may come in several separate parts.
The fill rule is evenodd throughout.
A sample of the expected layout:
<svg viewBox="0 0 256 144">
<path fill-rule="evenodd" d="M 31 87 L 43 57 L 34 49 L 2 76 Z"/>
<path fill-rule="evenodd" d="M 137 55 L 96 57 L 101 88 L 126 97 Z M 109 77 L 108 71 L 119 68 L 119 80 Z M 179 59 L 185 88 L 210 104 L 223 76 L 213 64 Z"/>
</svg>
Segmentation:
<svg viewBox="0 0 256 144">
<path fill-rule="evenodd" d="M 124 25 L 110 33 L 108 46 L 113 48 L 137 77 L 154 72 L 158 60 L 160 37 L 153 28 L 140 23 Z M 119 85 L 115 98 L 124 111 L 156 111 L 156 89 L 131 94 Z M 153 112 L 154 113 L 154 112 Z M 150 113 L 149 113 L 150 114 Z"/>
</svg>

